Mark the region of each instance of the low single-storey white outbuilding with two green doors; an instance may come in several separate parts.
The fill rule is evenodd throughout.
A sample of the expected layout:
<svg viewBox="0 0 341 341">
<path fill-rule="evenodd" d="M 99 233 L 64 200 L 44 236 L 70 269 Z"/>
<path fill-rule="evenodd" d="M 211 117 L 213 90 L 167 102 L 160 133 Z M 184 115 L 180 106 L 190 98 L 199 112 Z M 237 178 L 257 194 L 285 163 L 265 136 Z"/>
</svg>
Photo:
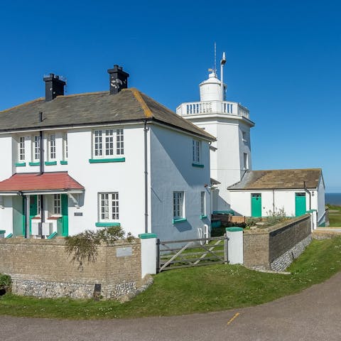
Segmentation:
<svg viewBox="0 0 341 341">
<path fill-rule="evenodd" d="M 325 183 L 320 168 L 247 171 L 228 190 L 237 215 L 264 217 L 283 212 L 298 217 L 316 210 L 318 225 L 325 223 Z"/>
</svg>

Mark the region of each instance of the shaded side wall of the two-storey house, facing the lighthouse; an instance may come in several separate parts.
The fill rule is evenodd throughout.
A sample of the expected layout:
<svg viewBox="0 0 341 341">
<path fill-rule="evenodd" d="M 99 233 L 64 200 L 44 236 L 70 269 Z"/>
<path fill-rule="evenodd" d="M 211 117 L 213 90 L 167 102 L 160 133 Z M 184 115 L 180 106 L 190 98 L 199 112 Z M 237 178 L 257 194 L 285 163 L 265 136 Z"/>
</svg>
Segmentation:
<svg viewBox="0 0 341 341">
<path fill-rule="evenodd" d="M 208 142 L 201 144 L 201 163 L 192 166 L 193 137 L 151 126 L 151 230 L 163 240 L 198 238 L 198 228 L 210 226 L 210 153 Z M 173 191 L 185 193 L 185 218 L 173 224 Z M 200 192 L 205 191 L 207 218 L 200 219 Z"/>
</svg>

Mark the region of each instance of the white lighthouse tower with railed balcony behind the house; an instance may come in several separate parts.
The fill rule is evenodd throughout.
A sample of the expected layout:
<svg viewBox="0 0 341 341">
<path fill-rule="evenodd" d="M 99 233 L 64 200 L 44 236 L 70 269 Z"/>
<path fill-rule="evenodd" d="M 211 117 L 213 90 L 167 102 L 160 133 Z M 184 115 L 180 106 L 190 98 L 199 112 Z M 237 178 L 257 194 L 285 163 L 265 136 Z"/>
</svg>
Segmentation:
<svg viewBox="0 0 341 341">
<path fill-rule="evenodd" d="M 245 171 L 251 169 L 250 128 L 254 122 L 249 119 L 249 109 L 224 98 L 225 62 L 223 55 L 220 80 L 216 70 L 212 70 L 208 79 L 200 83 L 200 102 L 183 103 L 176 108 L 177 114 L 217 138 L 210 146 L 211 178 L 219 182 L 211 191 L 214 211 L 230 209 L 227 187 L 239 182 Z"/>
</svg>

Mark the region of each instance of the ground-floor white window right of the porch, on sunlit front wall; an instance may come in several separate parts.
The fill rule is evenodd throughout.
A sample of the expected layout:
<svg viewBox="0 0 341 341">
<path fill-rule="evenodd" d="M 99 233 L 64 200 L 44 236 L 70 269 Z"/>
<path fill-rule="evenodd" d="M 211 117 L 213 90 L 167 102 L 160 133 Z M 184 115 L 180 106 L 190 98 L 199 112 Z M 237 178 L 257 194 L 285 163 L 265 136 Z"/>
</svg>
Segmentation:
<svg viewBox="0 0 341 341">
<path fill-rule="evenodd" d="M 99 222 L 118 222 L 118 192 L 98 193 L 98 220 Z"/>
</svg>

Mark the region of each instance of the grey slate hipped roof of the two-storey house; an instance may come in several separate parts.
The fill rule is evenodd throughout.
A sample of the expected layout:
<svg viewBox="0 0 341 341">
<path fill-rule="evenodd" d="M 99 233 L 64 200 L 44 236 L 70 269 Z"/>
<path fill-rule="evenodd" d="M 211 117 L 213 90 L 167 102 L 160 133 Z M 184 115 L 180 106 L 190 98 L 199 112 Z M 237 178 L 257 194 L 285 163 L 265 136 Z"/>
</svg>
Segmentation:
<svg viewBox="0 0 341 341">
<path fill-rule="evenodd" d="M 39 122 L 39 112 L 43 121 Z M 157 121 L 211 141 L 215 137 L 135 88 L 118 94 L 92 92 L 58 96 L 50 102 L 38 98 L 0 112 L 0 131 Z"/>
</svg>

